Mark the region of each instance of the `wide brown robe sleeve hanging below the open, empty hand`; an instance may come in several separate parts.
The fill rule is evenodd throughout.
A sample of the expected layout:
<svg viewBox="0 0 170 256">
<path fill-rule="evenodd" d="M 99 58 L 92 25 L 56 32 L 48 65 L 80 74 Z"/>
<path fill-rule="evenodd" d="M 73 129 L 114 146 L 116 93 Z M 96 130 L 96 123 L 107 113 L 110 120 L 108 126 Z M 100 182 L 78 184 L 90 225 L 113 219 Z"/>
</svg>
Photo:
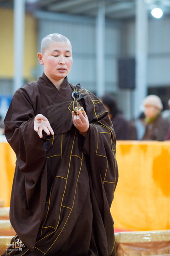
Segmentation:
<svg viewBox="0 0 170 256">
<path fill-rule="evenodd" d="M 10 222 L 20 239 L 32 249 L 46 200 L 46 149 L 34 131 L 35 111 L 22 88 L 15 92 L 6 114 L 5 136 L 16 154 L 10 201 Z"/>
</svg>

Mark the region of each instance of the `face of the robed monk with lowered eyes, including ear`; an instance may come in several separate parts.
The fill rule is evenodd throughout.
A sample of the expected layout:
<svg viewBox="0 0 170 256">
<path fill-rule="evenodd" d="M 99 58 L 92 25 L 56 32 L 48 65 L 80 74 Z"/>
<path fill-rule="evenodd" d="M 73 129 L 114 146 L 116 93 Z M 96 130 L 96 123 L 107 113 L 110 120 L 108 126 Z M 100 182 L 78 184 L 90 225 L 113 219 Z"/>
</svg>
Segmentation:
<svg viewBox="0 0 170 256">
<path fill-rule="evenodd" d="M 44 53 L 38 56 L 44 65 L 45 75 L 53 82 L 66 77 L 72 67 L 72 46 L 68 42 L 52 42 Z"/>
</svg>

